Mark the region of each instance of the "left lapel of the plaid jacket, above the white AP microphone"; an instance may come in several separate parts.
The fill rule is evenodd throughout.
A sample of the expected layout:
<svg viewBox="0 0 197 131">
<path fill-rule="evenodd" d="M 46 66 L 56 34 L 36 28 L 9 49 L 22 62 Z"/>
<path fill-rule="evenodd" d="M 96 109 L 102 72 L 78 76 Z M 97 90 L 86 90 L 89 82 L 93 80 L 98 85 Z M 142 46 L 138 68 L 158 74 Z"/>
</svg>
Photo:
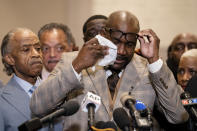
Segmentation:
<svg viewBox="0 0 197 131">
<path fill-rule="evenodd" d="M 110 114 L 110 101 L 109 101 L 109 89 L 106 80 L 106 74 L 103 67 L 96 65 L 95 71 L 91 68 L 87 70 L 91 83 L 93 84 L 94 91 L 101 97 L 101 102 L 108 114 Z M 92 89 L 89 89 L 90 91 Z"/>
</svg>

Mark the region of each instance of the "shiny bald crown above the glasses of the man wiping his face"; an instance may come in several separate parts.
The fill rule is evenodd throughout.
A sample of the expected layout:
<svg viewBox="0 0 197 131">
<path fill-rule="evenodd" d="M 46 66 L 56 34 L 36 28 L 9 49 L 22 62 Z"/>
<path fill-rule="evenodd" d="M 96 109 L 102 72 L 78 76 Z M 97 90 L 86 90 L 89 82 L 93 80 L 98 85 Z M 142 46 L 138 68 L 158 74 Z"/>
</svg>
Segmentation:
<svg viewBox="0 0 197 131">
<path fill-rule="evenodd" d="M 113 12 L 107 21 L 107 27 L 110 28 L 122 28 L 125 30 L 128 26 L 130 27 L 128 32 L 138 33 L 140 30 L 137 17 L 128 11 Z"/>
</svg>

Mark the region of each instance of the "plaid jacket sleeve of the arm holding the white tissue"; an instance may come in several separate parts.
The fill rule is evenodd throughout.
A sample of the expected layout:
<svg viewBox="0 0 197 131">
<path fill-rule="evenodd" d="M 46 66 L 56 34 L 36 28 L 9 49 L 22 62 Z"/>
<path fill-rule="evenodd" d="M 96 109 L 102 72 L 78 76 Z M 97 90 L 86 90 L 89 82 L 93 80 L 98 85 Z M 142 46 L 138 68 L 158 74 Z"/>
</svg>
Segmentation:
<svg viewBox="0 0 197 131">
<path fill-rule="evenodd" d="M 62 55 L 62 59 L 48 79 L 34 91 L 30 102 L 33 115 L 42 116 L 49 113 L 69 92 L 81 88 L 71 66 L 73 56 L 68 54 Z"/>
</svg>

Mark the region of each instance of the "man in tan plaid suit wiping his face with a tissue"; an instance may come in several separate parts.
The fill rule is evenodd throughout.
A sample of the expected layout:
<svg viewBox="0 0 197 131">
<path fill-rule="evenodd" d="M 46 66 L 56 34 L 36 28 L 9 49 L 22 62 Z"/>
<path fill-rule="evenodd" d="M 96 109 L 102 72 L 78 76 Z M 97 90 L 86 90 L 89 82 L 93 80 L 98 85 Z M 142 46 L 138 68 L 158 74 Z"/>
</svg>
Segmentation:
<svg viewBox="0 0 197 131">
<path fill-rule="evenodd" d="M 159 57 L 157 35 L 151 29 L 140 31 L 138 19 L 127 11 L 113 12 L 101 34 L 117 46 L 114 64 L 108 69 L 97 64 L 108 54 L 108 47 L 100 45 L 96 38 L 87 41 L 78 53 L 64 53 L 48 80 L 35 90 L 30 104 L 32 112 L 38 116 L 46 114 L 68 93 L 81 102 L 92 91 L 102 99 L 95 121 L 110 121 L 113 110 L 122 107 L 121 95 L 130 92 L 151 110 L 157 104 L 169 122 L 186 121 L 188 113 L 180 100 L 182 90 Z M 143 57 L 134 54 L 137 39 Z M 107 79 L 113 72 L 120 79 L 115 87 L 110 87 Z M 87 131 L 87 121 L 87 113 L 80 109 L 65 118 L 64 130 Z"/>
</svg>

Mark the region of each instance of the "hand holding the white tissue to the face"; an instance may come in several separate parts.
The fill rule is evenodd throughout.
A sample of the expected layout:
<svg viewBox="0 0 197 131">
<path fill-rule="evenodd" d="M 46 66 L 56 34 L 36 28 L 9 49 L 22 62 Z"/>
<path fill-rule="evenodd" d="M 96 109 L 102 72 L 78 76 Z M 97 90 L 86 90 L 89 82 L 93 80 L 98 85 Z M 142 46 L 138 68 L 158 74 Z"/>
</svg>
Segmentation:
<svg viewBox="0 0 197 131">
<path fill-rule="evenodd" d="M 95 65 L 107 54 L 108 47 L 100 45 L 98 40 L 93 38 L 83 45 L 78 56 L 72 62 L 73 68 L 77 73 L 80 73 L 83 69 Z"/>
</svg>

